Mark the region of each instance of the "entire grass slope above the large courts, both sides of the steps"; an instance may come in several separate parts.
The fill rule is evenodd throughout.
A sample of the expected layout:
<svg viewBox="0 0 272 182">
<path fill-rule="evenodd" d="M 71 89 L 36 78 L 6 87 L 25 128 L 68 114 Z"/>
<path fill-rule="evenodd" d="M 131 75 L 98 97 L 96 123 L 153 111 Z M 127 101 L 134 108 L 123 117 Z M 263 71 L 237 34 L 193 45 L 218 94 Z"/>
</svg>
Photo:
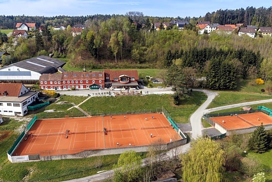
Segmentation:
<svg viewBox="0 0 272 182">
<path fill-rule="evenodd" d="M 80 98 L 80 99 L 78 99 Z M 69 111 L 66 109 L 72 107 L 70 104 L 82 102 L 87 97 L 76 97 L 66 95 L 58 102 L 68 101 L 67 104 L 52 104 L 45 108 L 45 110 L 56 109 L 52 113 L 38 113 L 38 118 L 58 118 L 67 115 L 73 115 L 74 117 L 79 114 L 83 116 L 78 109 L 73 108 Z M 202 100 L 201 100 L 202 98 Z M 174 120 L 178 123 L 187 123 L 190 115 L 206 100 L 207 96 L 198 91 L 190 93 L 190 98 L 180 101 L 178 106 L 173 104 L 173 98 L 169 94 L 163 95 L 133 95 L 133 96 L 117 96 L 117 97 L 92 97 L 79 107 L 89 114 L 95 115 L 96 113 L 115 114 L 124 112 L 139 112 L 139 111 L 159 111 L 161 107 L 164 107 Z M 65 111 L 65 112 L 58 112 Z M 78 116 L 77 116 L 78 117 Z"/>
</svg>

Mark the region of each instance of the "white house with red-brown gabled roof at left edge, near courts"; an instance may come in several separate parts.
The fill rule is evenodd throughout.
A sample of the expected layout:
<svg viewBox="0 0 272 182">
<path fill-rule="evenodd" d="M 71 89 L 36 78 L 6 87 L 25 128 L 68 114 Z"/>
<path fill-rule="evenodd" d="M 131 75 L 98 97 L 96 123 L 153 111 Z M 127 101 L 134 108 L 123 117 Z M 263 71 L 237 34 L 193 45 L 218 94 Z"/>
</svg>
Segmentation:
<svg viewBox="0 0 272 182">
<path fill-rule="evenodd" d="M 0 83 L 0 114 L 24 116 L 27 114 L 27 106 L 37 97 L 37 92 L 29 91 L 21 83 Z"/>
</svg>

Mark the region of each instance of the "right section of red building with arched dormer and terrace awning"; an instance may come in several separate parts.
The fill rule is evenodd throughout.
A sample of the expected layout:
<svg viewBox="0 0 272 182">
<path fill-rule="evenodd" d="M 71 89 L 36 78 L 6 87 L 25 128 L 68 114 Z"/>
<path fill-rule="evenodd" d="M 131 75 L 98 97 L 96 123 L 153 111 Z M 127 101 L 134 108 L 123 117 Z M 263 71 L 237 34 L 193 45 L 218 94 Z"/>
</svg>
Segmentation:
<svg viewBox="0 0 272 182">
<path fill-rule="evenodd" d="M 114 89 L 137 89 L 137 70 L 104 70 L 105 87 Z"/>
</svg>

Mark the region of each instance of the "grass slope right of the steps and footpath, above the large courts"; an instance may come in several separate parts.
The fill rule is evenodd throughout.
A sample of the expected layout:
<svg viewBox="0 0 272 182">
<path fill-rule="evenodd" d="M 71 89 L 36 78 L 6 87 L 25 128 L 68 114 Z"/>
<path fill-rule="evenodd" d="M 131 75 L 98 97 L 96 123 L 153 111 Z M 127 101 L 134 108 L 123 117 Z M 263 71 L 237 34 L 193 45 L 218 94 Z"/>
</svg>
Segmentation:
<svg viewBox="0 0 272 182">
<path fill-rule="evenodd" d="M 203 98 L 203 100 L 200 100 Z M 80 105 L 84 111 L 92 113 L 115 114 L 124 112 L 156 111 L 164 107 L 178 123 L 187 123 L 190 115 L 206 100 L 207 96 L 198 91 L 191 97 L 181 100 L 178 106 L 173 104 L 171 95 L 133 95 L 117 97 L 92 97 Z"/>
</svg>

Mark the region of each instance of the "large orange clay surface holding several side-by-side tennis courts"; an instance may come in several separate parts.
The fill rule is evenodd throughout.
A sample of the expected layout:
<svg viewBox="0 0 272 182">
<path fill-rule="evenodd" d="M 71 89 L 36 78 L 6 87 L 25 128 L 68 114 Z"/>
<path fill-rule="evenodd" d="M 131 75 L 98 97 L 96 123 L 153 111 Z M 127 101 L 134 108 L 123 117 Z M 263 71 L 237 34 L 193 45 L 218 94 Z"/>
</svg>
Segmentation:
<svg viewBox="0 0 272 182">
<path fill-rule="evenodd" d="M 151 116 L 154 116 L 152 119 Z M 147 120 L 145 120 L 147 118 Z M 141 129 L 141 127 L 160 127 Z M 108 129 L 135 128 L 128 131 L 108 131 L 103 133 L 103 127 Z M 66 129 L 69 132 L 94 131 L 95 133 L 68 134 L 65 138 Z M 169 143 L 170 138 L 177 135 L 177 132 L 169 125 L 168 120 L 159 113 L 135 114 L 124 116 L 104 116 L 91 118 L 62 118 L 37 120 L 29 133 L 31 134 L 52 134 L 64 132 L 61 135 L 52 136 L 31 136 L 27 140 L 22 140 L 13 156 L 21 155 L 61 155 L 75 154 L 88 149 L 106 149 L 117 147 L 150 145 L 161 138 L 165 143 Z M 150 134 L 152 133 L 152 138 Z"/>
</svg>

